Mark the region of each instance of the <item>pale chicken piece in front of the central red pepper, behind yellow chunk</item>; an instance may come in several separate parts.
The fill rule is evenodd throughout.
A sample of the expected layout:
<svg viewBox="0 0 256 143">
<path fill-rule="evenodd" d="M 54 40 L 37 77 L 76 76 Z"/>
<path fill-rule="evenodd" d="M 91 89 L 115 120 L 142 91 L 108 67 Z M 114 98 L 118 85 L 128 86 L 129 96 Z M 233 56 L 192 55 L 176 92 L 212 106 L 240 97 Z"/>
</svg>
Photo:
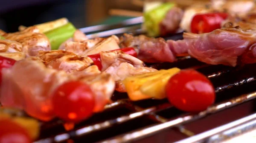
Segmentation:
<svg viewBox="0 0 256 143">
<path fill-rule="evenodd" d="M 122 84 L 122 80 L 126 77 L 156 71 L 154 68 L 143 67 L 145 64 L 140 59 L 122 51 L 100 52 L 100 57 L 103 73 L 111 74 L 116 81 L 116 90 L 119 92 L 126 91 Z"/>
</svg>

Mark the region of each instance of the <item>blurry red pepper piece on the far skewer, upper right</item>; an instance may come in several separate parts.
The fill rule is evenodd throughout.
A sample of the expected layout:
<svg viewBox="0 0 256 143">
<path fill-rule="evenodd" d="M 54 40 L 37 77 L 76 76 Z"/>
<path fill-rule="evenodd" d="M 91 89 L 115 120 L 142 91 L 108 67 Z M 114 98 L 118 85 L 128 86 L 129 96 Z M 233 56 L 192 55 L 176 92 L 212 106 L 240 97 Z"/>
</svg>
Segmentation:
<svg viewBox="0 0 256 143">
<path fill-rule="evenodd" d="M 221 22 L 228 17 L 226 13 L 208 13 L 195 15 L 191 22 L 191 32 L 200 34 L 221 28 Z"/>
</svg>

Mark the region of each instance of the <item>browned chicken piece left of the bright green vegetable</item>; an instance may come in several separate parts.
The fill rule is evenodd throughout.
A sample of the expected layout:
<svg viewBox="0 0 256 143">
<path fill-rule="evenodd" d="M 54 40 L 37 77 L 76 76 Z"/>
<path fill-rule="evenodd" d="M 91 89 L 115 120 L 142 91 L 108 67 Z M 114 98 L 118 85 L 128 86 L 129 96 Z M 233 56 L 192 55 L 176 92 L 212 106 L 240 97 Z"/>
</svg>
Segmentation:
<svg viewBox="0 0 256 143">
<path fill-rule="evenodd" d="M 21 43 L 22 51 L 26 56 L 36 56 L 39 50 L 51 50 L 49 39 L 39 32 L 35 26 L 26 28 L 23 31 L 3 34 L 6 39 Z"/>
</svg>

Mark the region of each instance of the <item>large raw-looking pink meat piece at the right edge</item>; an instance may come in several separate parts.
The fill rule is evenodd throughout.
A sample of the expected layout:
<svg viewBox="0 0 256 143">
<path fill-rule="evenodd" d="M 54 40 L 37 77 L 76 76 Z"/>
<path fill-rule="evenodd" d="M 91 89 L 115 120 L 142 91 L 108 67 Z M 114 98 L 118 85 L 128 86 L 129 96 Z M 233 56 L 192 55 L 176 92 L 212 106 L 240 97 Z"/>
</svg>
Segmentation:
<svg viewBox="0 0 256 143">
<path fill-rule="evenodd" d="M 227 24 L 221 29 L 210 33 L 191 34 L 184 33 L 183 40 L 168 40 L 170 49 L 183 49 L 207 64 L 224 64 L 236 66 L 238 57 L 244 64 L 255 61 L 254 44 L 256 43 L 255 30 L 243 30 Z M 248 59 L 248 56 L 250 58 Z"/>
</svg>

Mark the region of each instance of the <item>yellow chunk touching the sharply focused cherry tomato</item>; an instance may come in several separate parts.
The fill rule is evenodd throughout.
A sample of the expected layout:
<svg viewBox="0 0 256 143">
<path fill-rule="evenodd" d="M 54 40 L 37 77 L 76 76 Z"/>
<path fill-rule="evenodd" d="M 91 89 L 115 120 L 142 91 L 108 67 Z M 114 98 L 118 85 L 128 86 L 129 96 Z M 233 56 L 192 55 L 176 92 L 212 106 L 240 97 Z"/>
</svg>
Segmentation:
<svg viewBox="0 0 256 143">
<path fill-rule="evenodd" d="M 126 92 L 132 101 L 148 98 L 165 98 L 165 85 L 168 79 L 180 71 L 179 68 L 127 77 L 123 80 Z"/>
</svg>

